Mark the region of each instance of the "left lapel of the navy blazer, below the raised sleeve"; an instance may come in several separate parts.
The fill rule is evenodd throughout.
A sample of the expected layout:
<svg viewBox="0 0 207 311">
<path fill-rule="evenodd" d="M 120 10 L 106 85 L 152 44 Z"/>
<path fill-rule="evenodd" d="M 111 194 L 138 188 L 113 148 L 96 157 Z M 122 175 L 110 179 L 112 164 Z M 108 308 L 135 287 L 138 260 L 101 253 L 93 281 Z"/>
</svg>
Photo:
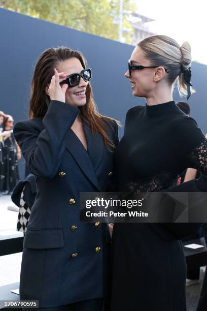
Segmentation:
<svg viewBox="0 0 207 311">
<path fill-rule="evenodd" d="M 99 191 L 102 191 L 95 175 L 89 153 L 86 151 L 82 142 L 71 129 L 68 131 L 65 137 L 65 144 L 67 150 L 71 152 L 84 174 L 90 179 L 90 181 Z"/>
</svg>

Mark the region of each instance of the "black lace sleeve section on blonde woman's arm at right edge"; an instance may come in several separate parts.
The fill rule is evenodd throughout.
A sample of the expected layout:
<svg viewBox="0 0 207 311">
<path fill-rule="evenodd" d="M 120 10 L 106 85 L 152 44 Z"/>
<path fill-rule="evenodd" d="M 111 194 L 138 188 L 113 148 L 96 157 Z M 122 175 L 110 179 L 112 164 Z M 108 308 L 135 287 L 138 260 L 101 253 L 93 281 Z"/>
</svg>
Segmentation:
<svg viewBox="0 0 207 311">
<path fill-rule="evenodd" d="M 199 170 L 207 175 L 207 140 L 205 139 L 198 147 L 188 155 L 189 167 Z"/>
</svg>

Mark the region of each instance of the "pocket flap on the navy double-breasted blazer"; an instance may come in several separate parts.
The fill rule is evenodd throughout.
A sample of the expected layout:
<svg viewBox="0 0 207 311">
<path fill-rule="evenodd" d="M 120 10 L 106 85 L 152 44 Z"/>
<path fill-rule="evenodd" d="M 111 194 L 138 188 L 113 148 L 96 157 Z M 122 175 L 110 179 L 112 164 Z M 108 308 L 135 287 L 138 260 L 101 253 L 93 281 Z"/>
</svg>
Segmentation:
<svg viewBox="0 0 207 311">
<path fill-rule="evenodd" d="M 64 246 L 62 228 L 29 229 L 24 237 L 24 247 L 27 248 L 58 248 Z"/>
</svg>

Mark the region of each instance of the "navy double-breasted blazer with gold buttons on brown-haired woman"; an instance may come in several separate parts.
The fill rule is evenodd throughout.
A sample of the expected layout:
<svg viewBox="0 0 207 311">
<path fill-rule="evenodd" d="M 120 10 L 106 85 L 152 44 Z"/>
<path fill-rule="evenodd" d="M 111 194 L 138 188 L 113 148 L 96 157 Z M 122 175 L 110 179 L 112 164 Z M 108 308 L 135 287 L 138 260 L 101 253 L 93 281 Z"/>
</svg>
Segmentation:
<svg viewBox="0 0 207 311">
<path fill-rule="evenodd" d="M 15 138 L 37 196 L 24 237 L 20 299 L 53 307 L 107 295 L 110 234 L 106 224 L 79 220 L 79 193 L 105 191 L 113 152 L 84 122 L 88 152 L 71 130 L 79 109 L 51 101 L 43 119 L 17 122 Z M 114 121 L 106 122 L 118 142 Z M 109 174 L 111 175 L 111 174 Z"/>
</svg>

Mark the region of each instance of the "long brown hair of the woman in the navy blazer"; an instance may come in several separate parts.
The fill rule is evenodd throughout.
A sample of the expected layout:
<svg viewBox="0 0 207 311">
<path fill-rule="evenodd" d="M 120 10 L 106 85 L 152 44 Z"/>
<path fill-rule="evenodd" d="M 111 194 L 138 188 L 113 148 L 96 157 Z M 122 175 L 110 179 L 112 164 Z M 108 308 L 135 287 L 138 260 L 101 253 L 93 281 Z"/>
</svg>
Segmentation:
<svg viewBox="0 0 207 311">
<path fill-rule="evenodd" d="M 60 61 L 73 57 L 80 60 L 84 69 L 87 67 L 87 61 L 84 55 L 80 51 L 72 50 L 67 47 L 49 48 L 40 55 L 34 67 L 31 82 L 29 119 L 43 118 L 45 116 L 50 105 L 50 97 L 46 94 L 45 89 L 47 84 L 50 84 L 51 78 L 54 75 L 54 68 L 58 67 Z M 88 123 L 93 135 L 99 132 L 103 136 L 105 146 L 108 148 L 109 146 L 114 147 L 113 142 L 107 134 L 106 121 L 110 126 L 110 120 L 114 120 L 118 125 L 120 125 L 120 123 L 111 117 L 101 115 L 97 111 L 90 82 L 88 82 L 86 87 L 86 104 L 79 109 L 80 117 Z"/>
</svg>

